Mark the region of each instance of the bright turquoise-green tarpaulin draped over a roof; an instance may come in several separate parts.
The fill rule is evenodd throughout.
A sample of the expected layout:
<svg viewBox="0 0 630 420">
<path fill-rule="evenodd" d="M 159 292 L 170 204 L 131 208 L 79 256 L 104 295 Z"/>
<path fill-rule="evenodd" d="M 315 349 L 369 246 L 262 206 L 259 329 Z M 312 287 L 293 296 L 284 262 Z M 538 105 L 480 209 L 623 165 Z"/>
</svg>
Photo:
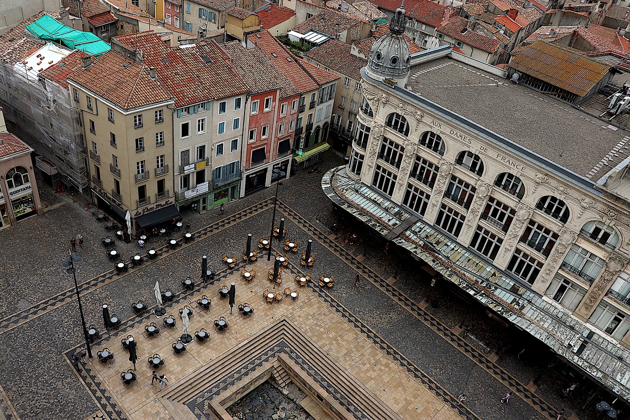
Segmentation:
<svg viewBox="0 0 630 420">
<path fill-rule="evenodd" d="M 37 38 L 59 41 L 60 45 L 68 49 L 81 50 L 90 55 L 101 55 L 112 48 L 93 33 L 72 29 L 49 15 L 26 25 L 26 29 Z"/>
</svg>

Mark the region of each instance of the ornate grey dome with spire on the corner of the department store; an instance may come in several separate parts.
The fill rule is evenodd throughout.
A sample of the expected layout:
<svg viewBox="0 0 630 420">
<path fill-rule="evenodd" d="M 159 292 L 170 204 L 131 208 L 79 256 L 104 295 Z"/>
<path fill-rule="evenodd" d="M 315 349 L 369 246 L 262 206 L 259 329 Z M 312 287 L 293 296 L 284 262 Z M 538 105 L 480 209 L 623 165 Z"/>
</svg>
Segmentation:
<svg viewBox="0 0 630 420">
<path fill-rule="evenodd" d="M 389 21 L 389 33 L 377 39 L 370 48 L 367 69 L 382 78 L 401 79 L 409 74 L 411 54 L 403 37 L 407 19 L 403 5 Z"/>
</svg>

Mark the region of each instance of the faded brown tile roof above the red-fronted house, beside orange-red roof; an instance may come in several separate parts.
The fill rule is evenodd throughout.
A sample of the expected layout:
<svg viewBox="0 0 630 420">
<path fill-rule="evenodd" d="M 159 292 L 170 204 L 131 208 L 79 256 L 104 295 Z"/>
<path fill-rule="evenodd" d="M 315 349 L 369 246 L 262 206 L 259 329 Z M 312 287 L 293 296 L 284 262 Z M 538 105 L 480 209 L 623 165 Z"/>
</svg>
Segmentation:
<svg viewBox="0 0 630 420">
<path fill-rule="evenodd" d="M 264 93 L 280 89 L 280 96 L 288 98 L 299 92 L 287 76 L 258 48 L 244 48 L 239 41 L 227 42 L 221 47 L 248 85 L 252 93 Z"/>
</svg>

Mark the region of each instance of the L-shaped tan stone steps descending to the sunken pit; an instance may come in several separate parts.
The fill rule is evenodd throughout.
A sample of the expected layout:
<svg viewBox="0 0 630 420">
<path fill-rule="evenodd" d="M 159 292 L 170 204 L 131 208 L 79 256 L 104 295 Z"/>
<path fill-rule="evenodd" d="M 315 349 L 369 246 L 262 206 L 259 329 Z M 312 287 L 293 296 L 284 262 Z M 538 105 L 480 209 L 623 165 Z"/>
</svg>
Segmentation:
<svg viewBox="0 0 630 420">
<path fill-rule="evenodd" d="M 260 353 L 267 351 L 280 341 L 287 343 L 295 353 L 308 361 L 309 365 L 312 366 L 318 375 L 325 378 L 325 380 L 335 388 L 333 390 L 323 390 L 323 392 L 335 392 L 338 397 L 343 397 L 343 399 L 347 400 L 348 404 L 350 404 L 350 406 L 347 407 L 348 410 L 364 413 L 374 420 L 402 420 L 401 416 L 389 409 L 384 402 L 350 375 L 345 368 L 331 359 L 310 337 L 305 335 L 301 329 L 287 319 L 278 320 L 277 323 L 253 335 L 248 341 L 241 342 L 230 351 L 222 354 L 219 358 L 214 359 L 199 370 L 171 384 L 168 392 L 161 395 L 161 398 L 169 401 L 168 409 L 171 411 L 170 408 L 173 407 L 173 413 L 178 413 L 176 418 L 194 418 L 194 416 L 179 416 L 179 413 L 183 411 L 188 411 L 188 413 L 192 415 L 192 412 L 190 412 L 190 409 L 188 409 L 185 404 L 194 400 L 195 397 L 202 394 L 205 390 L 211 389 L 215 383 L 221 381 L 221 378 L 234 374 L 243 365 L 252 363 Z M 274 365 L 277 366 L 276 364 Z M 289 382 L 295 383 L 295 380 L 291 380 L 290 378 L 291 373 L 287 372 L 284 368 L 278 369 L 275 366 L 272 370 L 275 370 L 277 373 L 277 376 L 274 374 L 275 378 L 280 379 L 278 383 L 282 386 Z M 247 375 L 241 376 L 238 382 L 248 382 L 248 376 L 256 376 L 256 374 L 249 371 Z M 340 393 L 341 395 L 339 395 Z M 307 394 L 309 393 L 307 392 Z M 339 405 L 331 395 L 321 396 L 335 402 L 333 405 Z M 221 399 L 224 399 L 224 397 L 221 396 Z M 318 401 L 314 400 L 314 402 L 321 407 Z M 164 405 L 166 407 L 166 404 Z M 332 417 L 333 419 L 357 418 L 357 416 L 350 414 L 347 409 L 343 408 L 341 405 L 340 407 L 343 413 L 338 413 L 341 414 L 341 416 L 334 416 Z M 354 410 L 352 407 L 354 407 Z M 321 412 L 323 412 L 323 410 L 324 409 L 322 409 Z M 328 416 L 328 414 L 326 414 L 326 416 Z M 316 418 L 325 419 L 326 417 L 321 416 Z"/>
</svg>

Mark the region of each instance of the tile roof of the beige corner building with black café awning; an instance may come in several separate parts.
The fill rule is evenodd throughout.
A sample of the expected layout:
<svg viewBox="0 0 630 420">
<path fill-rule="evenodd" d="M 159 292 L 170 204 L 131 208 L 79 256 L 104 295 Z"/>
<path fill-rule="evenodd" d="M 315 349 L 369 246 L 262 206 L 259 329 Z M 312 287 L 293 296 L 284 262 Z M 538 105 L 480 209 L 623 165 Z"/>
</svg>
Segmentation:
<svg viewBox="0 0 630 420">
<path fill-rule="evenodd" d="M 124 110 L 171 99 L 164 86 L 149 77 L 146 66 L 124 55 L 109 50 L 100 57 L 93 57 L 92 62 L 87 69 L 76 69 L 68 80 Z"/>
</svg>

